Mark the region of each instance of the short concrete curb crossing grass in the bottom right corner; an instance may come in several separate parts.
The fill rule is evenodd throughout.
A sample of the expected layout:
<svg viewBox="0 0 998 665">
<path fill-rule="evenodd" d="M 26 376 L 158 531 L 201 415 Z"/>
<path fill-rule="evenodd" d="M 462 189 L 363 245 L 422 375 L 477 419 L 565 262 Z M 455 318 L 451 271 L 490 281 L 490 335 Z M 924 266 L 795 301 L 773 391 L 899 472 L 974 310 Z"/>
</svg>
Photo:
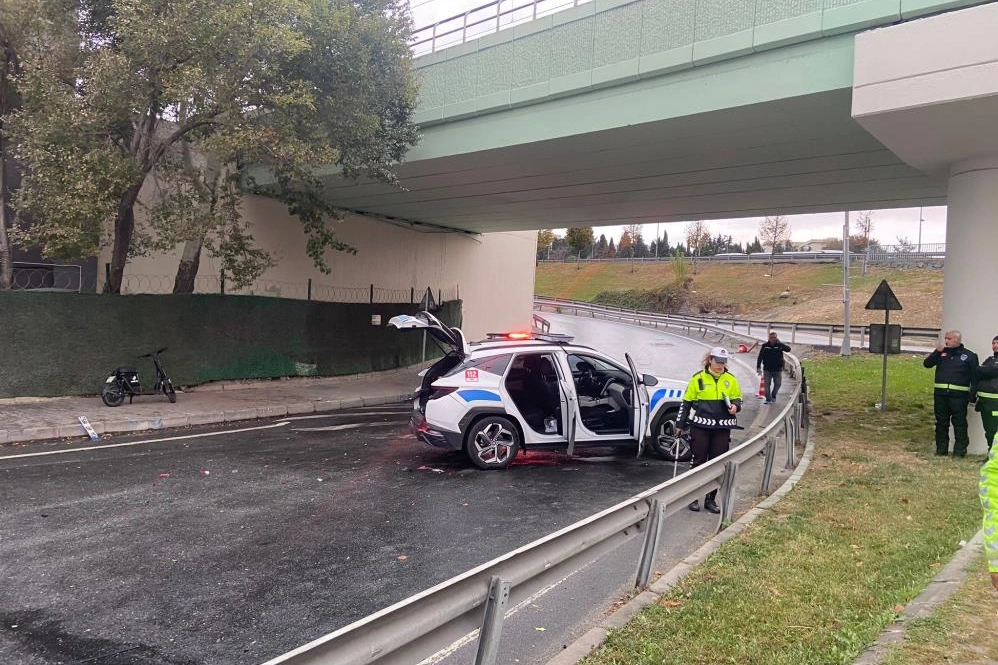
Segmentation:
<svg viewBox="0 0 998 665">
<path fill-rule="evenodd" d="M 908 633 L 907 623 L 912 619 L 929 616 L 942 606 L 967 580 L 969 566 L 983 550 L 984 534 L 978 531 L 963 547 L 957 550 L 949 563 L 933 578 L 922 593 L 908 603 L 901 615 L 884 628 L 876 641 L 857 658 L 853 665 L 876 665 Z"/>
</svg>

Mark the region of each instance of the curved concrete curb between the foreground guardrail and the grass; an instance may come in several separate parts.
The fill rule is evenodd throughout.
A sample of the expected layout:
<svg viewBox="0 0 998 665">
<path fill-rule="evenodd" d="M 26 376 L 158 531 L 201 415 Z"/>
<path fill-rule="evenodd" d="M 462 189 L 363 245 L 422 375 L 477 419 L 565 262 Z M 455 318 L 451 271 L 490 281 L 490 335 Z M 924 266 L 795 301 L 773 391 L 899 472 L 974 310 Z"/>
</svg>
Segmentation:
<svg viewBox="0 0 998 665">
<path fill-rule="evenodd" d="M 766 497 L 764 501 L 760 502 L 754 508 L 749 509 L 727 529 L 715 535 L 713 538 L 704 543 L 698 550 L 673 566 L 671 570 L 659 577 L 651 586 L 648 587 L 647 590 L 639 593 L 630 601 L 615 610 L 612 614 L 607 616 L 602 622 L 600 622 L 599 625 L 591 628 L 583 634 L 582 637 L 565 647 L 561 653 L 547 661 L 547 665 L 575 665 L 600 646 L 606 640 L 606 637 L 611 629 L 622 628 L 641 610 L 649 605 L 657 603 L 659 598 L 664 596 L 669 590 L 676 586 L 676 584 L 686 577 L 694 568 L 706 561 L 707 558 L 717 551 L 721 545 L 738 536 L 745 530 L 745 527 L 754 522 L 757 517 L 779 503 L 780 499 L 786 496 L 790 490 L 792 490 L 794 486 L 800 482 L 800 479 L 804 476 L 808 467 L 811 465 L 811 458 L 813 455 L 814 440 L 812 438 L 811 430 L 808 430 L 807 443 L 804 446 L 804 452 L 801 454 L 801 459 L 797 464 L 797 468 L 794 469 L 794 472 L 790 475 L 790 477 L 787 478 L 776 491 Z"/>
</svg>

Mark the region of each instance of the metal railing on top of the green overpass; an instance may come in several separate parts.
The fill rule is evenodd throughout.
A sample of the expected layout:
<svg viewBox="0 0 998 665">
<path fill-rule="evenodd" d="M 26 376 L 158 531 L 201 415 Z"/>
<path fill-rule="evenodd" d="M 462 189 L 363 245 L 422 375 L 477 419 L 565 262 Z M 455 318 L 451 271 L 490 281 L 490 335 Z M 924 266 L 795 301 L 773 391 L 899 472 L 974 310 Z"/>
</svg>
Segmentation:
<svg viewBox="0 0 998 665">
<path fill-rule="evenodd" d="M 493 0 L 413 30 L 413 54 L 433 53 L 592 0 Z"/>
</svg>

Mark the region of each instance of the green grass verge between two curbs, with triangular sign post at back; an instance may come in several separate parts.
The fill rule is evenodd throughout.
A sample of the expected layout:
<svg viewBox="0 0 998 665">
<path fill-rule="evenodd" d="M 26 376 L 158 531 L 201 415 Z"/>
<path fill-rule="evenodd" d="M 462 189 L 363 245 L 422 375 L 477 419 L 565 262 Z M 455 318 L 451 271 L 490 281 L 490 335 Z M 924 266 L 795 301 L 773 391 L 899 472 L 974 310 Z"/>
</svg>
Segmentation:
<svg viewBox="0 0 998 665">
<path fill-rule="evenodd" d="M 849 663 L 977 530 L 979 460 L 932 455 L 920 358 L 890 359 L 884 412 L 879 357 L 805 368 L 817 444 L 801 483 L 586 665 Z"/>
</svg>

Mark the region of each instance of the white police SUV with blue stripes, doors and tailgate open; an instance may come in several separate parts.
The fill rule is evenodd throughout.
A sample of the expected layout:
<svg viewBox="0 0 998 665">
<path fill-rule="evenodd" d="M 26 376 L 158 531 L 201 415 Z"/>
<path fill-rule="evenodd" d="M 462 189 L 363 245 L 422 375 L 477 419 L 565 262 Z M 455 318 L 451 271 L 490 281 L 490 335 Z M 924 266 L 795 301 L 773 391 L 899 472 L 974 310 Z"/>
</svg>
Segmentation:
<svg viewBox="0 0 998 665">
<path fill-rule="evenodd" d="M 443 358 L 422 372 L 410 426 L 432 446 L 463 450 L 482 469 L 508 467 L 526 448 L 637 443 L 667 460 L 689 459 L 673 436 L 685 382 L 639 374 L 567 335 L 493 333 L 469 343 L 429 312 L 388 322 L 423 330 Z M 650 427 L 649 427 L 650 423 Z M 650 435 L 649 435 L 650 434 Z"/>
</svg>

